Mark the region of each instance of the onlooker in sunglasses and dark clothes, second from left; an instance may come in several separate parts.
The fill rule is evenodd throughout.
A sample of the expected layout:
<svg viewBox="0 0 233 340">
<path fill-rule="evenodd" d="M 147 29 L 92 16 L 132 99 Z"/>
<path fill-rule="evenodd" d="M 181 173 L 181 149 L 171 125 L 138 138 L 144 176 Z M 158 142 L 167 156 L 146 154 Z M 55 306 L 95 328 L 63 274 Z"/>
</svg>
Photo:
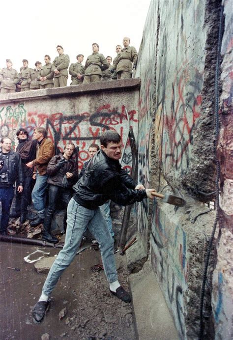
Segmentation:
<svg viewBox="0 0 233 340">
<path fill-rule="evenodd" d="M 17 145 L 16 152 L 20 155 L 23 170 L 24 170 L 24 190 L 22 193 L 16 190 L 15 194 L 15 214 L 11 214 L 10 217 L 20 217 L 20 224 L 23 224 L 27 218 L 28 205 L 31 201 L 31 191 L 33 183 L 33 169 L 26 167 L 28 162 L 35 159 L 36 155 L 36 141 L 29 141 L 28 131 L 24 128 L 20 128 L 16 132 L 19 144 Z M 16 181 L 16 187 L 19 185 L 19 179 Z"/>
</svg>

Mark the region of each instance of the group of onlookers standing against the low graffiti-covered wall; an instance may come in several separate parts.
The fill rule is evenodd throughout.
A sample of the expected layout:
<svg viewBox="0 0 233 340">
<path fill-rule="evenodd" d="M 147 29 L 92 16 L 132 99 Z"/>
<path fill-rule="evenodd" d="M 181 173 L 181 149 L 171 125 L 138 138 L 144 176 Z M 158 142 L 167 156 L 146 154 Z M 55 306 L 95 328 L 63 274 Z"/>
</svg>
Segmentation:
<svg viewBox="0 0 233 340">
<path fill-rule="evenodd" d="M 89 160 L 99 150 L 98 144 L 88 148 L 89 160 L 84 164 L 78 176 L 75 145 L 69 142 L 64 152 L 55 155 L 54 144 L 47 139 L 45 128 L 34 130 L 33 140 L 29 140 L 27 129 L 20 128 L 17 133 L 18 145 L 12 151 L 12 140 L 1 139 L 0 149 L 0 199 L 2 205 L 0 234 L 7 235 L 9 218 L 19 218 L 22 226 L 28 217 L 28 206 L 32 202 L 36 214 L 30 217 L 30 226 L 43 224 L 42 240 L 57 243 L 58 239 L 51 234 L 53 214 L 56 209 L 67 208 L 72 197 L 72 186 L 80 179 Z M 15 212 L 10 214 L 15 193 Z M 45 204 L 46 213 L 45 213 Z M 104 203 L 100 209 L 105 217 L 108 229 L 114 237 L 110 217 L 110 202 Z M 65 213 L 63 228 L 66 230 Z"/>
</svg>

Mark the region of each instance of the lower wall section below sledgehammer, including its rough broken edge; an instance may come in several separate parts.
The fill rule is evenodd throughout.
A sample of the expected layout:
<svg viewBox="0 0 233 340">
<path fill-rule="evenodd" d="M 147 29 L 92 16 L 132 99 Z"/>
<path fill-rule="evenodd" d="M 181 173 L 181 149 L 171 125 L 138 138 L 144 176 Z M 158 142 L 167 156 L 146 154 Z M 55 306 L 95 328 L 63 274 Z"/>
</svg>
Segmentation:
<svg viewBox="0 0 233 340">
<path fill-rule="evenodd" d="M 190 204 L 178 211 L 166 203 L 154 204 L 151 261 L 180 339 L 197 339 L 199 334 L 204 258 L 214 216 L 203 204 Z M 212 270 L 213 255 L 208 286 Z M 209 294 L 206 295 L 209 299 Z M 210 315 L 209 301 L 204 305 L 204 313 Z M 205 339 L 212 339 L 212 332 L 207 331 Z"/>
</svg>

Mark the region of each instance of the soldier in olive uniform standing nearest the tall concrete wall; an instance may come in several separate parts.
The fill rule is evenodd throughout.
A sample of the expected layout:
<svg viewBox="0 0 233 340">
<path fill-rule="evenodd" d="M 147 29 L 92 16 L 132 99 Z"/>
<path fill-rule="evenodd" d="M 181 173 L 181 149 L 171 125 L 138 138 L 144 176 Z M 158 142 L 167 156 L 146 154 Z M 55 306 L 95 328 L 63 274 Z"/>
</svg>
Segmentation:
<svg viewBox="0 0 233 340">
<path fill-rule="evenodd" d="M 117 79 L 132 78 L 132 63 L 133 69 L 136 69 L 138 52 L 135 47 L 129 46 L 129 43 L 130 39 L 124 37 L 124 48 L 113 63 L 112 72 L 117 69 Z"/>
</svg>

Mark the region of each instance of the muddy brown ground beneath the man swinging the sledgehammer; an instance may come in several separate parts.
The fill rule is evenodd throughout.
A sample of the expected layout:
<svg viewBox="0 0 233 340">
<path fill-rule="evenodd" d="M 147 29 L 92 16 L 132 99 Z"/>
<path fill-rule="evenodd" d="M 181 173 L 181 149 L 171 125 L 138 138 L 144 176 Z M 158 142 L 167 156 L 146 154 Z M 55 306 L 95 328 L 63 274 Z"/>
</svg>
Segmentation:
<svg viewBox="0 0 233 340">
<path fill-rule="evenodd" d="M 49 256 L 59 252 L 56 248 L 0 242 L 0 340 L 136 339 L 132 305 L 110 293 L 103 270 L 91 271 L 100 263 L 100 252 L 91 249 L 77 255 L 63 273 L 44 320 L 35 323 L 31 310 L 46 274 L 38 274 L 34 264 L 23 258 L 37 249 L 50 252 Z M 125 258 L 117 253 L 116 260 L 119 281 L 128 289 Z"/>
</svg>

